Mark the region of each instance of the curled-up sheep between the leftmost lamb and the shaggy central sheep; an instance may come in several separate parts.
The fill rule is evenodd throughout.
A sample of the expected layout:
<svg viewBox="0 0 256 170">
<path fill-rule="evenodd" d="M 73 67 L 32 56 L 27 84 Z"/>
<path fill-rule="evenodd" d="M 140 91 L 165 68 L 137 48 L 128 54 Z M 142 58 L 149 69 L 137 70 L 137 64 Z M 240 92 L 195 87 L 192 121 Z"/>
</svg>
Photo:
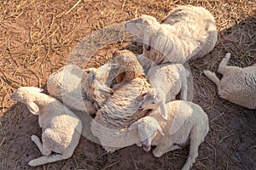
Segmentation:
<svg viewBox="0 0 256 170">
<path fill-rule="evenodd" d="M 108 94 L 113 93 L 105 84 L 110 67 L 107 64 L 83 71 L 77 65 L 65 65 L 49 76 L 49 95 L 60 99 L 69 109 L 95 114 Z"/>
</svg>

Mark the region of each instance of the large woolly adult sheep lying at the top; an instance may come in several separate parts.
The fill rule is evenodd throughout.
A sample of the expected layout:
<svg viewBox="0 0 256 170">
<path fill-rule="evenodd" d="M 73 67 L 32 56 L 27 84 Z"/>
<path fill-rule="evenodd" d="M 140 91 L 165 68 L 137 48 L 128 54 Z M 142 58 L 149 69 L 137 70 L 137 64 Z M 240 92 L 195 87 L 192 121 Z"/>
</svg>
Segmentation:
<svg viewBox="0 0 256 170">
<path fill-rule="evenodd" d="M 174 8 L 163 24 L 143 14 L 126 22 L 125 31 L 143 40 L 143 56 L 156 65 L 201 58 L 212 51 L 218 39 L 212 14 L 191 5 Z"/>
</svg>

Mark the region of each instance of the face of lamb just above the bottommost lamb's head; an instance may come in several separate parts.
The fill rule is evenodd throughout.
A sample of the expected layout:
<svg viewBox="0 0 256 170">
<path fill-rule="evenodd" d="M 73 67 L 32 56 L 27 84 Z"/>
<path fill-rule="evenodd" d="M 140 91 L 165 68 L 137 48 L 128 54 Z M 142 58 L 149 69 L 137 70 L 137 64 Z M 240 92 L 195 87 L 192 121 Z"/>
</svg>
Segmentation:
<svg viewBox="0 0 256 170">
<path fill-rule="evenodd" d="M 139 109 L 142 111 L 155 110 L 156 108 L 159 107 L 161 103 L 159 95 L 155 94 L 154 90 L 141 94 L 141 97 L 139 98 L 143 99 L 139 107 Z"/>
</svg>

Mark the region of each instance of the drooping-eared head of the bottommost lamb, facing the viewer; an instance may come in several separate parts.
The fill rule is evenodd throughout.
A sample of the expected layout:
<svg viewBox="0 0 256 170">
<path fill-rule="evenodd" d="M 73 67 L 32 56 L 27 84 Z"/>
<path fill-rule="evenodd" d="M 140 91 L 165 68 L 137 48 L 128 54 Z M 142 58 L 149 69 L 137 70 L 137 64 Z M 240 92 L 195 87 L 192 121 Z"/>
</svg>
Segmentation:
<svg viewBox="0 0 256 170">
<path fill-rule="evenodd" d="M 133 128 L 138 129 L 138 137 L 140 141 L 143 141 L 143 149 L 145 151 L 151 149 L 151 143 L 157 130 L 164 135 L 159 123 L 151 116 L 145 116 L 137 122 L 132 123 L 128 129 L 131 130 Z"/>
</svg>

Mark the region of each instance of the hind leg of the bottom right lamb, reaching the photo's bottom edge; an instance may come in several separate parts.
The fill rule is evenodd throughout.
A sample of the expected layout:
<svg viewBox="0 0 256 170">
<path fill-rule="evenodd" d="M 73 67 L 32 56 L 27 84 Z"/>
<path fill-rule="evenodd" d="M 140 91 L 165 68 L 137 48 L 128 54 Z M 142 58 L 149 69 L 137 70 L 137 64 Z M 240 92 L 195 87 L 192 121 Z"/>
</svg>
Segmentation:
<svg viewBox="0 0 256 170">
<path fill-rule="evenodd" d="M 200 144 L 201 144 L 201 129 L 198 129 L 198 127 L 195 127 L 192 129 L 190 134 L 189 158 L 187 159 L 182 170 L 189 170 L 193 166 L 193 163 L 195 163 L 195 159 L 198 156 L 198 147 Z"/>
</svg>

